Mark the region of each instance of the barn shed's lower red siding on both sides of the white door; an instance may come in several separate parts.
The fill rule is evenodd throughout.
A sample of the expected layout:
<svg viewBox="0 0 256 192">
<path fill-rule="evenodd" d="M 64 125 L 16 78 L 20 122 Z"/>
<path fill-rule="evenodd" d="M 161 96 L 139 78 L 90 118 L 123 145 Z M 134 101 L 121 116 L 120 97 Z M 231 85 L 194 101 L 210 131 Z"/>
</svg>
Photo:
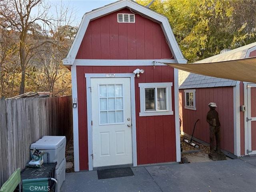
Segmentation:
<svg viewBox="0 0 256 192">
<path fill-rule="evenodd" d="M 136 66 L 76 66 L 78 86 L 78 130 L 80 170 L 88 170 L 87 106 L 85 73 L 132 73 Z M 136 134 L 138 164 L 176 162 L 175 115 L 139 117 L 138 83 L 174 82 L 169 66 L 140 66 L 144 74 L 135 78 Z M 172 87 L 174 111 L 174 87 Z M 175 112 L 174 112 L 175 114 Z"/>
</svg>

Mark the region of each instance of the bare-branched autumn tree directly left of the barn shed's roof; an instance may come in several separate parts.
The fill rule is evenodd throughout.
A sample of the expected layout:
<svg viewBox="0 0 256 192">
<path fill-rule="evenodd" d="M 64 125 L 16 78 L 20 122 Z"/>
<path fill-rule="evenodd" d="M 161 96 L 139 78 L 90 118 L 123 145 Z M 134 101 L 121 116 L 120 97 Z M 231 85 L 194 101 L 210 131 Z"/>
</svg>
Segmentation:
<svg viewBox="0 0 256 192">
<path fill-rule="evenodd" d="M 72 40 L 78 30 L 74 24 L 73 9 L 60 4 L 55 6 L 57 18 L 47 26 L 51 43 L 38 50 L 41 68 L 38 83 L 42 90 L 47 90 L 53 96 L 71 94 L 71 73 L 63 66 L 62 58 L 66 56 Z M 58 9 L 58 10 L 57 10 Z"/>
</svg>

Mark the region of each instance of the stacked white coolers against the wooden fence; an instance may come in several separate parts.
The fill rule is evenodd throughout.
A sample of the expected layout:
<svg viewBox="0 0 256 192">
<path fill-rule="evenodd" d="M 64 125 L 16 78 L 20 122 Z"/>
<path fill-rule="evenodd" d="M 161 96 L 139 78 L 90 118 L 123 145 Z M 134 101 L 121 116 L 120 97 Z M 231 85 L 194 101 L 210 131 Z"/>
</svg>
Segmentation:
<svg viewBox="0 0 256 192">
<path fill-rule="evenodd" d="M 40 151 L 44 151 L 44 163 L 54 163 L 57 162 L 55 168 L 55 178 L 58 181 L 58 190 L 65 180 L 66 172 L 66 137 L 65 136 L 43 136 L 41 139 L 31 144 L 30 152 L 34 148 Z"/>
</svg>

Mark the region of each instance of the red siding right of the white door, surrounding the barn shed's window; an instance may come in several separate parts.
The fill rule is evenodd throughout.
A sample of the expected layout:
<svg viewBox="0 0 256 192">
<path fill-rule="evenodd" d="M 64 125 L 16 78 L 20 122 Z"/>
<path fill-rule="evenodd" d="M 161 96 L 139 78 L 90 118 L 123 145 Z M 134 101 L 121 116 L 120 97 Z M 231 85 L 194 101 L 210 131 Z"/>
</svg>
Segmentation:
<svg viewBox="0 0 256 192">
<path fill-rule="evenodd" d="M 141 67 L 142 68 L 142 67 Z M 145 73 L 135 78 L 137 160 L 140 164 L 176 161 L 175 115 L 140 117 L 140 92 L 138 83 L 174 82 L 173 68 L 144 66 Z M 174 111 L 174 87 L 172 86 Z M 175 112 L 174 112 L 175 114 Z"/>
</svg>

